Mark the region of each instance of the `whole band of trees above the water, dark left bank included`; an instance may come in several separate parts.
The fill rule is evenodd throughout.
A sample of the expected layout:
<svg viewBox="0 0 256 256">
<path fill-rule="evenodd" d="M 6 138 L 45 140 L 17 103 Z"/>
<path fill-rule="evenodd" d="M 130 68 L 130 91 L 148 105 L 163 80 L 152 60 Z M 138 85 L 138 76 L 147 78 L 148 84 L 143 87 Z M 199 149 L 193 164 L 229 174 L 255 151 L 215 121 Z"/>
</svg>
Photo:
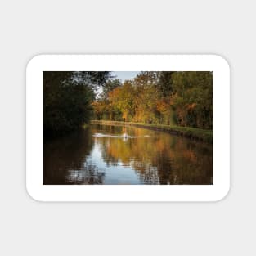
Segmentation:
<svg viewBox="0 0 256 256">
<path fill-rule="evenodd" d="M 60 135 L 90 119 L 213 128 L 213 72 L 44 71 L 43 132 Z"/>
</svg>

